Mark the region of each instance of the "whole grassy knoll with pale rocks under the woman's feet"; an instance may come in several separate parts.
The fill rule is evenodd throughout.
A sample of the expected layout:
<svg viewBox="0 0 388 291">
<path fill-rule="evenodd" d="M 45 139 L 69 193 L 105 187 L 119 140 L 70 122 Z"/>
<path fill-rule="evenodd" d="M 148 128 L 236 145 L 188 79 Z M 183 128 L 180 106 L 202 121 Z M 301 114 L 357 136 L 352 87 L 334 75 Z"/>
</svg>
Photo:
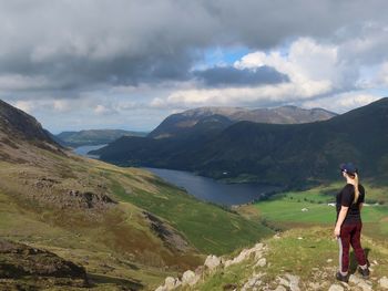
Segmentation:
<svg viewBox="0 0 388 291">
<path fill-rule="evenodd" d="M 349 283 L 336 281 L 338 245 L 330 228 L 314 227 L 277 233 L 231 257 L 208 256 L 205 264 L 165 279 L 156 291 L 388 290 L 388 246 L 364 237 L 371 276 L 363 279 L 351 258 Z M 287 258 L 285 260 L 285 258 Z"/>
</svg>

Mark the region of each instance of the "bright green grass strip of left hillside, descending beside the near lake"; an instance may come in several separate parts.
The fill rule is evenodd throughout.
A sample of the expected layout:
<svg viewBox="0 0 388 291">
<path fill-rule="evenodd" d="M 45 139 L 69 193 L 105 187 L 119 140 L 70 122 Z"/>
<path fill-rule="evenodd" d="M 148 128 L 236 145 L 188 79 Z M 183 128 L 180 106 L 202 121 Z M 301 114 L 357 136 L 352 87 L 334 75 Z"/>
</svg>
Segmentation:
<svg viewBox="0 0 388 291">
<path fill-rule="evenodd" d="M 109 177 L 111 175 L 112 172 L 109 173 Z M 135 190 L 127 195 L 125 187 L 129 185 L 124 180 L 112 180 L 113 193 L 123 201 L 134 204 L 170 221 L 203 253 L 231 252 L 272 233 L 257 221 L 248 221 L 217 206 L 201 202 L 155 177 L 151 179 L 160 189 L 156 195 L 146 190 Z"/>
</svg>

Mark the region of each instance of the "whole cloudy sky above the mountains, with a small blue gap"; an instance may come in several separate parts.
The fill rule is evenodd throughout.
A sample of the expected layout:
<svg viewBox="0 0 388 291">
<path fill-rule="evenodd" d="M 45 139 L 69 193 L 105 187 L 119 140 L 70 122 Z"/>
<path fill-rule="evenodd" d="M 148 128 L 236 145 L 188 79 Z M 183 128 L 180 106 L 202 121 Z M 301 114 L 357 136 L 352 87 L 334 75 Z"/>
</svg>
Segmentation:
<svg viewBox="0 0 388 291">
<path fill-rule="evenodd" d="M 385 0 L 0 0 L 0 98 L 65 129 L 388 96 Z"/>
</svg>

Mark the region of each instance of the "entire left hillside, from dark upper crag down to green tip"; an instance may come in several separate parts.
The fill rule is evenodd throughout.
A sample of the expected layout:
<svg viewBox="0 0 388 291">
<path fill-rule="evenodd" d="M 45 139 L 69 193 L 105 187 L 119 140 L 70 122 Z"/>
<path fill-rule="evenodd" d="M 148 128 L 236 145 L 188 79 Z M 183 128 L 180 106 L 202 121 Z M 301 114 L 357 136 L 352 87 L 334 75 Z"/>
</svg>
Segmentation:
<svg viewBox="0 0 388 291">
<path fill-rule="evenodd" d="M 8 104 L 0 112 L 0 237 L 84 268 L 88 290 L 149 290 L 202 263 L 207 252 L 227 253 L 273 233 L 145 170 L 75 156 Z M 0 274 L 38 258 L 7 256 L 0 251 Z M 50 268 L 50 261 L 40 266 Z M 0 289 L 22 283 L 34 290 L 39 282 L 31 276 L 39 268 L 0 279 Z M 45 287 L 73 290 L 79 278 L 67 281 L 59 273 L 47 273 Z"/>
</svg>

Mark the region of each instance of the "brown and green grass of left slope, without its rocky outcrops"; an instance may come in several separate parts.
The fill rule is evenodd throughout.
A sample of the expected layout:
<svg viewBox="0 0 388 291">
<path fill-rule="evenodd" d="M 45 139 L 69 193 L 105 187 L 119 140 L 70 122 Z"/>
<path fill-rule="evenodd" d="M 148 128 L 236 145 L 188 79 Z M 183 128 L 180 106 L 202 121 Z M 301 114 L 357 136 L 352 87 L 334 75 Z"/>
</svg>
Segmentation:
<svg viewBox="0 0 388 291">
<path fill-rule="evenodd" d="M 202 263 L 202 253 L 225 253 L 272 233 L 258 222 L 200 202 L 141 169 L 38 148 L 29 148 L 29 155 L 34 157 L 29 164 L 0 162 L 0 236 L 84 266 L 96 290 L 119 285 L 152 289 L 165 276 Z M 37 188 L 41 177 L 60 183 Z M 98 191 L 99 187 L 115 197 L 119 206 L 95 214 L 52 208 L 28 198 L 55 197 L 65 189 Z M 172 225 L 192 249 L 171 251 L 150 229 L 143 209 Z"/>
</svg>

